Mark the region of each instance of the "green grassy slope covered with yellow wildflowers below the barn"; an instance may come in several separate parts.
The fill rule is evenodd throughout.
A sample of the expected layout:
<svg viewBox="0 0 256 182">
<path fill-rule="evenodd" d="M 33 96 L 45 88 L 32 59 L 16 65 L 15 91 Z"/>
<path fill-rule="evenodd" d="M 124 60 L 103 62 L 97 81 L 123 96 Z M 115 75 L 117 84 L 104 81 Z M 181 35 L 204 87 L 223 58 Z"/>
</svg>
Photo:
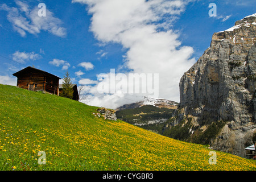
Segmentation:
<svg viewBox="0 0 256 182">
<path fill-rule="evenodd" d="M 256 163 L 92 114 L 97 107 L 0 85 L 0 170 L 255 170 Z M 46 165 L 39 165 L 39 151 Z"/>
</svg>

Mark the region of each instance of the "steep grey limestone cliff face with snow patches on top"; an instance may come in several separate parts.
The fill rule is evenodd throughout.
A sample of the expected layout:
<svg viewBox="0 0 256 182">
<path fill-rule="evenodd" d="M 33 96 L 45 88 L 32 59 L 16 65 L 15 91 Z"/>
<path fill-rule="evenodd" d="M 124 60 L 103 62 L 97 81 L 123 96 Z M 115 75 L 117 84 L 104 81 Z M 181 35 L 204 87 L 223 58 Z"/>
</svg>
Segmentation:
<svg viewBox="0 0 256 182">
<path fill-rule="evenodd" d="M 243 156 L 256 132 L 255 33 L 256 14 L 213 34 L 210 47 L 181 77 L 180 104 L 166 135 Z M 187 135 L 179 133 L 184 127 Z"/>
</svg>

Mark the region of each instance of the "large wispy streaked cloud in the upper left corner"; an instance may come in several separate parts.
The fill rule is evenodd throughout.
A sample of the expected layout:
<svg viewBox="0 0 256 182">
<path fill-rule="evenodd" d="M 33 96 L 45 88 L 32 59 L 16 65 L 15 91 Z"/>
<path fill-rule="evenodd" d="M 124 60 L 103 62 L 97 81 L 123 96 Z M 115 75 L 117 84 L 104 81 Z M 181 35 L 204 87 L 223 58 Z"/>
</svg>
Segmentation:
<svg viewBox="0 0 256 182">
<path fill-rule="evenodd" d="M 18 7 L 9 7 L 6 4 L 0 6 L 0 10 L 7 11 L 7 20 L 13 25 L 15 31 L 21 36 L 26 36 L 26 32 L 30 34 L 39 34 L 41 30 L 48 31 L 53 35 L 65 37 L 67 30 L 61 27 L 60 19 L 55 18 L 54 14 L 46 9 L 47 16 L 38 16 L 39 8 L 36 6 L 30 9 L 26 3 L 15 1 Z"/>
</svg>

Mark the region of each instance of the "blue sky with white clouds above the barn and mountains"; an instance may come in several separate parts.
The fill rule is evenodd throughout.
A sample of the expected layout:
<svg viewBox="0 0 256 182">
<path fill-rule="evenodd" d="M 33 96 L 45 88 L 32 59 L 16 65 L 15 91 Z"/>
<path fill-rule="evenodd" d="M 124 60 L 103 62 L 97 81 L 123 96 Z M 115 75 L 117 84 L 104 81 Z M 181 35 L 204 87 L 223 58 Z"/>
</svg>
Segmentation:
<svg viewBox="0 0 256 182">
<path fill-rule="evenodd" d="M 209 16 L 210 3 L 217 16 Z M 97 75 L 157 73 L 158 97 L 179 102 L 180 77 L 213 33 L 256 13 L 255 6 L 254 0 L 0 1 L 0 83 L 15 85 L 12 74 L 27 66 L 61 78 L 68 69 L 90 93 L 86 104 L 115 108 L 143 94 L 98 93 Z"/>
</svg>

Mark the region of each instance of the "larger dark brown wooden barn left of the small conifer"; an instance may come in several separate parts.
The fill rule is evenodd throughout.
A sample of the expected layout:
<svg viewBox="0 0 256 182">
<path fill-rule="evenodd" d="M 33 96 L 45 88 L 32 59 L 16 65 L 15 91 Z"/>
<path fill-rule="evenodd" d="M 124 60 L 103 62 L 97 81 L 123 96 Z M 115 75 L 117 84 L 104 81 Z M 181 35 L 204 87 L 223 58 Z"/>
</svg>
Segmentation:
<svg viewBox="0 0 256 182">
<path fill-rule="evenodd" d="M 59 96 L 59 80 L 61 78 L 51 73 L 27 67 L 14 73 L 13 76 L 17 77 L 17 86 L 19 88 L 43 91 Z"/>
</svg>

